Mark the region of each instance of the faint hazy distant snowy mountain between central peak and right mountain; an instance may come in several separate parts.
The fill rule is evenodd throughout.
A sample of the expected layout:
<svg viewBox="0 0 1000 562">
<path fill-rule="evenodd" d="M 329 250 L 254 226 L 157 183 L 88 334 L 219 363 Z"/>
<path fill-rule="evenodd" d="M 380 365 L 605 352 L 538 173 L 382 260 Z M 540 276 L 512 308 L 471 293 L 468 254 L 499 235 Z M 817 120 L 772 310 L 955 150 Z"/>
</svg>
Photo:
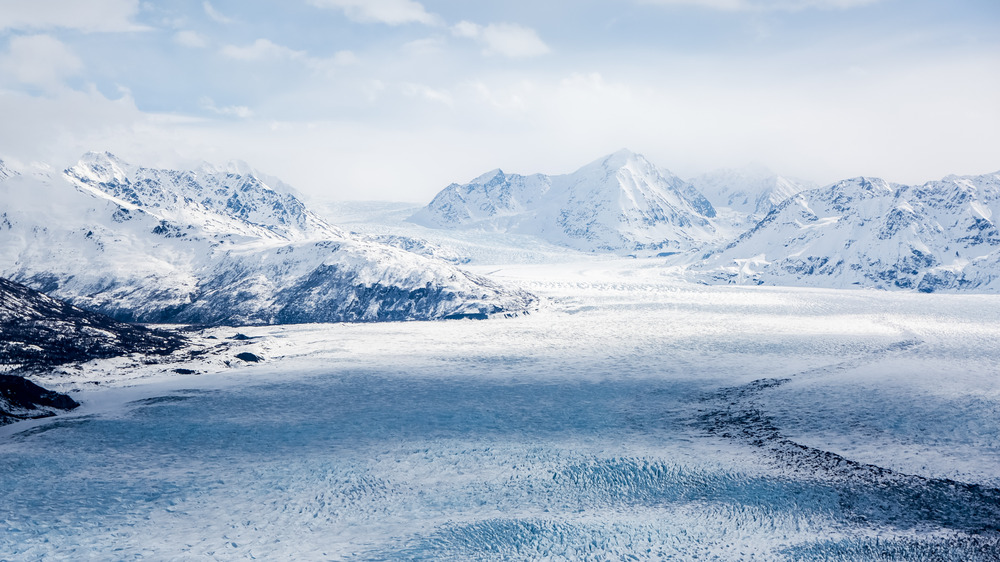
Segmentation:
<svg viewBox="0 0 1000 562">
<path fill-rule="evenodd" d="M 818 187 L 756 165 L 723 168 L 691 178 L 690 182 L 720 215 L 731 211 L 730 222 L 734 227 L 744 228 L 753 226 L 796 193 Z"/>
</svg>

